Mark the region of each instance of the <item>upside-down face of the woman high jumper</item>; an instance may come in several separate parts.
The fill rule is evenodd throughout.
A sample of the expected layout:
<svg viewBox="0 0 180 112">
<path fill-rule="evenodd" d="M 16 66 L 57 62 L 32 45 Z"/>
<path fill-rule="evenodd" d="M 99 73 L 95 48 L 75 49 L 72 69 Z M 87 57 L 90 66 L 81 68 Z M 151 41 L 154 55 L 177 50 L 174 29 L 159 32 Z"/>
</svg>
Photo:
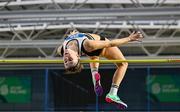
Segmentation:
<svg viewBox="0 0 180 112">
<path fill-rule="evenodd" d="M 77 52 L 71 49 L 66 49 L 64 51 L 64 57 L 63 57 L 65 69 L 76 66 L 78 63 L 78 59 L 79 58 Z"/>
</svg>

